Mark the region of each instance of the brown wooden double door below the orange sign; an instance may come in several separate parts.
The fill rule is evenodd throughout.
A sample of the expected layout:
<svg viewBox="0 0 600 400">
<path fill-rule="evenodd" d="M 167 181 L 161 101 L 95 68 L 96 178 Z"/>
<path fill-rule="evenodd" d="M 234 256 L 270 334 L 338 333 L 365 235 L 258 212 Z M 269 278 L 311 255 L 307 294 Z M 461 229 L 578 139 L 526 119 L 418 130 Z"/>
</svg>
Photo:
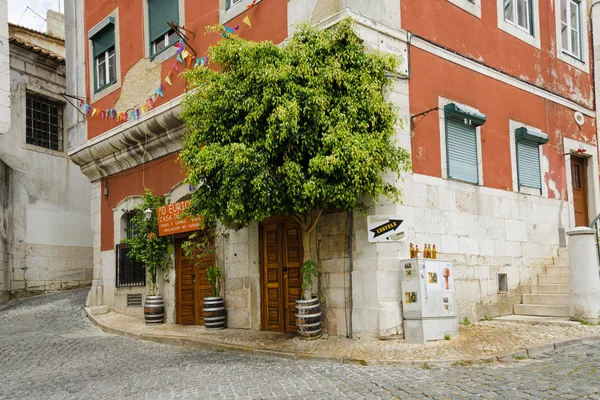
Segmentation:
<svg viewBox="0 0 600 400">
<path fill-rule="evenodd" d="M 207 256 L 194 265 L 181 246 L 186 240 L 187 237 L 175 239 L 176 322 L 181 325 L 204 325 L 204 298 L 212 293 L 206 268 L 213 265 L 213 259 Z"/>
</svg>

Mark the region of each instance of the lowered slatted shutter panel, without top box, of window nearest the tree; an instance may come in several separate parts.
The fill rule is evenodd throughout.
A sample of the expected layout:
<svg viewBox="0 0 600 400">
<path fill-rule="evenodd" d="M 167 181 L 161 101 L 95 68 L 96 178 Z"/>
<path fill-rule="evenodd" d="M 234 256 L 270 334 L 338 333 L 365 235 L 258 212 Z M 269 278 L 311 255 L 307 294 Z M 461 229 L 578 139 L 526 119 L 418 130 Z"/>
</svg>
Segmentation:
<svg viewBox="0 0 600 400">
<path fill-rule="evenodd" d="M 473 125 L 446 120 L 446 157 L 448 178 L 479 183 L 477 133 Z"/>
</svg>

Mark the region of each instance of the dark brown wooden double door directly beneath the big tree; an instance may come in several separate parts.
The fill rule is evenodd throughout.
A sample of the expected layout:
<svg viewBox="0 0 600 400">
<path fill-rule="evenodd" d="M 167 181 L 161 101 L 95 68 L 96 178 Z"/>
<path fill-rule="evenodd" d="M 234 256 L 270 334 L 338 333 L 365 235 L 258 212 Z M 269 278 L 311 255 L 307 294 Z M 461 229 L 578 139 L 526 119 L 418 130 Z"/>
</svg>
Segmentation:
<svg viewBox="0 0 600 400">
<path fill-rule="evenodd" d="M 302 293 L 302 231 L 292 219 L 261 228 L 263 329 L 296 332 L 296 300 Z"/>
</svg>

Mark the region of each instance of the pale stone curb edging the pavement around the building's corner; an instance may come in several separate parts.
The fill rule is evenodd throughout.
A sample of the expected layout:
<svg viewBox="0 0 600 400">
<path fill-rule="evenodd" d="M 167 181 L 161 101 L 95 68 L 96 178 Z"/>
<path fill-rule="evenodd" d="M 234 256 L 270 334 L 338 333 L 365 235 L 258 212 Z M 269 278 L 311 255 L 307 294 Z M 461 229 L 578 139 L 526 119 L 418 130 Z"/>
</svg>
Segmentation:
<svg viewBox="0 0 600 400">
<path fill-rule="evenodd" d="M 244 346 L 230 343 L 219 343 L 213 340 L 201 339 L 201 338 L 190 338 L 182 336 L 171 336 L 171 335 L 157 335 L 152 333 L 139 333 L 134 331 L 127 331 L 119 329 L 108 324 L 104 324 L 98 321 L 95 316 L 90 312 L 88 307 L 85 307 L 85 314 L 88 319 L 102 331 L 127 338 L 136 340 L 145 340 L 160 344 L 169 344 L 174 346 L 185 347 L 194 350 L 212 350 L 212 351 L 230 351 L 235 353 L 252 354 L 255 356 L 263 357 L 276 357 L 288 360 L 312 360 L 319 362 L 328 362 L 336 364 L 352 364 L 362 366 L 410 366 L 410 367 L 453 367 L 457 365 L 469 366 L 469 365 L 480 365 L 489 364 L 494 362 L 510 362 L 520 360 L 524 358 L 536 357 L 542 354 L 546 354 L 555 350 L 581 346 L 584 342 L 589 341 L 600 341 L 600 335 L 586 336 L 576 339 L 565 339 L 559 340 L 553 343 L 545 343 L 525 349 L 513 349 L 494 355 L 484 355 L 475 357 L 463 357 L 454 359 L 430 359 L 430 360 L 362 360 L 349 357 L 340 356 L 328 356 L 321 354 L 310 354 L 310 353 L 294 353 L 290 351 L 279 351 L 270 349 L 258 349 L 252 346 Z"/>
</svg>

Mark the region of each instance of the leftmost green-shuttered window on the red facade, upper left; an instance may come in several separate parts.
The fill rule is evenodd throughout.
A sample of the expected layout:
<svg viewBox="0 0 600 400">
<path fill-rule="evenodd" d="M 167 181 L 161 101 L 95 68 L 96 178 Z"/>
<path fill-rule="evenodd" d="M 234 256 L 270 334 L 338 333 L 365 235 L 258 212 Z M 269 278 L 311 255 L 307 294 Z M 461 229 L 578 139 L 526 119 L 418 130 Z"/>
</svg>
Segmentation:
<svg viewBox="0 0 600 400">
<path fill-rule="evenodd" d="M 94 58 L 94 92 L 99 92 L 117 81 L 115 53 L 115 20 L 106 18 L 90 31 Z"/>
</svg>

